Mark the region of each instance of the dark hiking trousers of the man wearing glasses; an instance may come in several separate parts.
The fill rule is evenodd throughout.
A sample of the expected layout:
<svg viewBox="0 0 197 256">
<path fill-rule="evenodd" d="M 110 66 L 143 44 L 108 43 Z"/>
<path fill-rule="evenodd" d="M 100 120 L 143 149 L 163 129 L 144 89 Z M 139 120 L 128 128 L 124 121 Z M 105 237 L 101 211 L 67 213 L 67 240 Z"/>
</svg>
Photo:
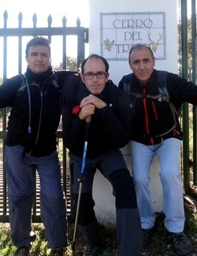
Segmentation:
<svg viewBox="0 0 197 256">
<path fill-rule="evenodd" d="M 72 189 L 77 201 L 82 159 L 70 154 Z M 99 246 L 99 235 L 92 198 L 92 185 L 96 170 L 101 171 L 113 186 L 117 209 L 117 239 L 119 256 L 137 256 L 142 246 L 142 229 L 136 203 L 136 192 L 120 150 L 113 150 L 93 160 L 86 160 L 80 198 L 78 227 L 87 244 Z"/>
</svg>

